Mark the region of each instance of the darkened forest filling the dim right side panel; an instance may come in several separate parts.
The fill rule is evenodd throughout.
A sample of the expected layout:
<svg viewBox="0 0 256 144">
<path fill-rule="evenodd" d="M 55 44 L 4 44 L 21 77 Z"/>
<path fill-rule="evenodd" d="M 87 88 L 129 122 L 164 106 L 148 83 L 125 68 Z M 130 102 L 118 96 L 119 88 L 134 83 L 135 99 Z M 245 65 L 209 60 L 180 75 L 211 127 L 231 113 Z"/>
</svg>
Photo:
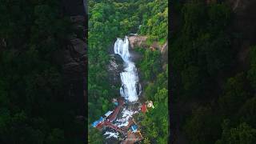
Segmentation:
<svg viewBox="0 0 256 144">
<path fill-rule="evenodd" d="M 174 14 L 170 83 L 180 118 L 174 125 L 182 131 L 176 136 L 192 144 L 255 143 L 256 47 L 241 66 L 237 47 L 245 39 L 232 27 L 234 11 L 225 1 L 192 0 L 175 1 Z"/>
</svg>

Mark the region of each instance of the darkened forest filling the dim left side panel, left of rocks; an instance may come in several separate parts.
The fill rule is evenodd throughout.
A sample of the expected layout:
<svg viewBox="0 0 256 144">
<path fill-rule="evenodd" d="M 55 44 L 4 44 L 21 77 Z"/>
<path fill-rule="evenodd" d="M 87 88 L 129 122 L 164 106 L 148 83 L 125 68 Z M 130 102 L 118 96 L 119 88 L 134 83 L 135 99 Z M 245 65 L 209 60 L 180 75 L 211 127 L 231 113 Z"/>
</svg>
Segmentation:
<svg viewBox="0 0 256 144">
<path fill-rule="evenodd" d="M 0 1 L 0 143 L 83 143 L 62 70 L 60 1 Z"/>
</svg>

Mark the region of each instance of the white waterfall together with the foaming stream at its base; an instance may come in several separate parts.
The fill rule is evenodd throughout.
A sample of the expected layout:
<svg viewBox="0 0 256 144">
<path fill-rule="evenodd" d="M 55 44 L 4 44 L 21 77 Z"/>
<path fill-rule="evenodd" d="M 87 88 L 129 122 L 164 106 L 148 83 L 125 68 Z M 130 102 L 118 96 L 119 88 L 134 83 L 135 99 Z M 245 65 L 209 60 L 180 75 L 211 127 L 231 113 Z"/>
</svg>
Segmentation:
<svg viewBox="0 0 256 144">
<path fill-rule="evenodd" d="M 138 96 L 142 93 L 142 86 L 139 83 L 137 68 L 132 62 L 129 51 L 129 40 L 125 38 L 117 38 L 114 43 L 114 54 L 122 58 L 123 70 L 120 73 L 121 87 L 120 97 L 125 99 L 126 104 L 122 106 L 117 118 L 112 122 L 115 126 L 122 128 L 127 126 L 133 114 L 139 112 Z M 126 135 L 120 134 L 117 131 L 106 128 L 103 131 L 106 139 L 124 139 Z"/>
</svg>

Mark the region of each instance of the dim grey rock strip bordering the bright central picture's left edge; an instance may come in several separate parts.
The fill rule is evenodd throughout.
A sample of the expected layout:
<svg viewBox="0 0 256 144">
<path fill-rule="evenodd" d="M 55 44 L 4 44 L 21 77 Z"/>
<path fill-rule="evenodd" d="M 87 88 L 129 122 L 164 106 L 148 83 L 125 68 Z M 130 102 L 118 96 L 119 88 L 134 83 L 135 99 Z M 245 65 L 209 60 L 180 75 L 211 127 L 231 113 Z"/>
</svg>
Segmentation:
<svg viewBox="0 0 256 144">
<path fill-rule="evenodd" d="M 62 0 L 62 10 L 70 17 L 74 32 L 70 35 L 64 53 L 63 71 L 65 74 L 66 92 L 70 103 L 77 111 L 76 119 L 84 123 L 86 112 L 86 10 L 83 0 Z M 84 137 L 85 131 L 82 137 Z"/>
</svg>

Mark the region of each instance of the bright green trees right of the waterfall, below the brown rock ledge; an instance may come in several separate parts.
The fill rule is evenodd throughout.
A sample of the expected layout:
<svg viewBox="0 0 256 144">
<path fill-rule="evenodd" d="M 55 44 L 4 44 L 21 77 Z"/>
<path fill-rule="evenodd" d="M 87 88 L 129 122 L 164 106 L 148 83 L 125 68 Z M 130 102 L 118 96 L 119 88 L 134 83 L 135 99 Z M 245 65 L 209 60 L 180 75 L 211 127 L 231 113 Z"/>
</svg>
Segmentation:
<svg viewBox="0 0 256 144">
<path fill-rule="evenodd" d="M 147 57 L 149 53 L 155 53 L 155 51 L 145 50 L 142 58 L 142 62 L 139 64 L 138 69 L 142 71 L 142 74 L 145 74 L 148 69 L 146 66 L 150 66 L 150 62 L 159 62 L 161 55 L 157 57 Z M 154 60 L 152 60 L 154 59 Z M 152 60 L 152 61 L 151 61 Z M 146 66 L 145 66 L 146 65 Z M 145 67 L 143 67 L 145 66 Z M 161 62 L 158 65 L 151 65 L 152 69 L 159 69 L 155 73 L 152 73 L 152 78 L 146 79 L 146 81 L 151 81 L 145 86 L 145 95 L 147 100 L 154 102 L 154 109 L 150 109 L 141 122 L 143 126 L 142 134 L 146 136 L 145 143 L 148 142 L 157 142 L 157 143 L 166 143 L 168 139 L 168 126 L 169 126 L 169 115 L 168 115 L 168 73 L 162 71 Z M 157 74 L 157 76 L 155 76 Z M 161 112 L 160 112 L 161 111 Z"/>
</svg>

